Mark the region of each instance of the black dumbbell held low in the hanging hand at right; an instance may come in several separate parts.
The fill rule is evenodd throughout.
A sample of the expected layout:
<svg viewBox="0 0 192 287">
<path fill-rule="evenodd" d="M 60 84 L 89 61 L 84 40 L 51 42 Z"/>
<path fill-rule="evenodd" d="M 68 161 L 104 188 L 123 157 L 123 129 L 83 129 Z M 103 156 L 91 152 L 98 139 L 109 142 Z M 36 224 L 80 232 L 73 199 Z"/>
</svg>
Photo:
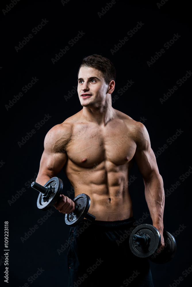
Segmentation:
<svg viewBox="0 0 192 287">
<path fill-rule="evenodd" d="M 148 257 L 154 263 L 167 263 L 176 252 L 176 241 L 174 236 L 165 230 L 163 237 L 165 246 L 162 251 L 157 252 L 161 244 L 159 231 L 151 224 L 141 224 L 130 234 L 130 250 L 137 257 Z"/>
</svg>

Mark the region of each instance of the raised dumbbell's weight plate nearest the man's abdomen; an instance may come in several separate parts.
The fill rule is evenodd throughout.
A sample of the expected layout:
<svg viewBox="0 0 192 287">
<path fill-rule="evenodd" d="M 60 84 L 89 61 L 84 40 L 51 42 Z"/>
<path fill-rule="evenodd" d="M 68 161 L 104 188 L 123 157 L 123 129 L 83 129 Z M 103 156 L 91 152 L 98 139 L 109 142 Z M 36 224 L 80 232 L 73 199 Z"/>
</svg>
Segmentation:
<svg viewBox="0 0 192 287">
<path fill-rule="evenodd" d="M 75 205 L 79 206 L 79 211 L 76 212 L 71 212 L 70 214 L 65 215 L 65 222 L 67 225 L 70 226 L 75 226 L 77 225 L 80 221 L 82 221 L 89 210 L 89 206 L 91 203 L 89 195 L 85 193 L 80 193 L 78 194 L 74 199 L 73 199 Z"/>
</svg>

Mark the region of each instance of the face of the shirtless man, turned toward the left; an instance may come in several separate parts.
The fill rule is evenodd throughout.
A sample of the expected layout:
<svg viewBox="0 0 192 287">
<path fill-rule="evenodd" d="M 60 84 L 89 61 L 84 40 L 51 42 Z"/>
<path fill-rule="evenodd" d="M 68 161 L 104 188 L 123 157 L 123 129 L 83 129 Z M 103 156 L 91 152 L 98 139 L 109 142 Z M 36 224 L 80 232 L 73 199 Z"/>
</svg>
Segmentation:
<svg viewBox="0 0 192 287">
<path fill-rule="evenodd" d="M 101 71 L 86 66 L 80 68 L 77 91 L 82 106 L 99 107 L 104 104 L 108 88 Z"/>
</svg>

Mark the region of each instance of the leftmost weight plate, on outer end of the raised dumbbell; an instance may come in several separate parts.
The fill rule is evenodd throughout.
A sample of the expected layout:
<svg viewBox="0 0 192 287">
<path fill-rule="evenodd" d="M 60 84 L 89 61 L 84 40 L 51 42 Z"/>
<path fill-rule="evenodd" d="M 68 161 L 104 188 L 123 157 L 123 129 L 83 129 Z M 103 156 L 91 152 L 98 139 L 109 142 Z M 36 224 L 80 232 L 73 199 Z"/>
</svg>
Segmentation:
<svg viewBox="0 0 192 287">
<path fill-rule="evenodd" d="M 45 183 L 44 187 L 49 187 L 50 191 L 45 196 L 43 193 L 39 193 L 37 207 L 42 210 L 48 210 L 59 199 L 63 189 L 63 182 L 58 177 L 52 177 Z"/>
</svg>

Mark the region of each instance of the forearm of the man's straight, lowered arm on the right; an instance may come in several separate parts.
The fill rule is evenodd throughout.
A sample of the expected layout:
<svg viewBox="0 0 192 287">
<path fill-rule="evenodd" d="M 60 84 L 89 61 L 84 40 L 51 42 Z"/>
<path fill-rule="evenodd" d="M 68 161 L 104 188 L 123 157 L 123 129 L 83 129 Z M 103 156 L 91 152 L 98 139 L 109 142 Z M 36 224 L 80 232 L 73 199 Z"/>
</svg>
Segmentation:
<svg viewBox="0 0 192 287">
<path fill-rule="evenodd" d="M 165 193 L 161 175 L 153 175 L 150 181 L 144 181 L 145 199 L 149 208 L 153 225 L 163 228 L 163 212 Z"/>
</svg>

